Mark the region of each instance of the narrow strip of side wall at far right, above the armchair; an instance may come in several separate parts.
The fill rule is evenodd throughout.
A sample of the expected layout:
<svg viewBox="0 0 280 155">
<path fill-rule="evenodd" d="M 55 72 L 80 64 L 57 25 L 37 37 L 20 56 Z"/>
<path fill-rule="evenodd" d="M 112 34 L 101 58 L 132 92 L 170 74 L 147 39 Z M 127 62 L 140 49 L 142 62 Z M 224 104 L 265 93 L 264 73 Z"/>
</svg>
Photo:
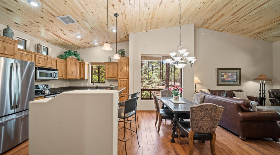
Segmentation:
<svg viewBox="0 0 280 155">
<path fill-rule="evenodd" d="M 273 89 L 280 88 L 280 41 L 272 43 Z"/>
</svg>

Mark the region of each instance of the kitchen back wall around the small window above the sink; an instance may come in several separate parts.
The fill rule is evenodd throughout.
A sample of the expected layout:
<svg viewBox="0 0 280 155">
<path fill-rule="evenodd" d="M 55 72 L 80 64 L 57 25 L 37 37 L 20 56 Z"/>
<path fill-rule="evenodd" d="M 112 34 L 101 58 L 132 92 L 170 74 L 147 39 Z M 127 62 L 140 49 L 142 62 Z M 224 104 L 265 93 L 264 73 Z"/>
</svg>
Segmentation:
<svg viewBox="0 0 280 155">
<path fill-rule="evenodd" d="M 85 60 L 85 62 L 108 62 L 108 57 L 110 55 L 112 62 L 118 62 L 117 59 L 113 59 L 114 54 L 116 53 L 116 44 L 110 44 L 112 51 L 104 51 L 101 48 L 103 46 L 96 46 L 90 48 L 84 48 L 77 50 L 81 54 L 81 58 Z M 128 52 L 129 56 L 129 42 L 118 42 L 117 49 L 125 49 Z M 89 65 L 89 77 L 88 80 L 69 80 L 69 86 L 86 86 L 88 83 L 89 86 L 96 86 L 91 84 L 91 67 Z M 118 83 L 118 80 L 106 80 L 105 84 L 98 84 L 98 86 L 109 86 L 109 83 L 115 84 Z"/>
</svg>

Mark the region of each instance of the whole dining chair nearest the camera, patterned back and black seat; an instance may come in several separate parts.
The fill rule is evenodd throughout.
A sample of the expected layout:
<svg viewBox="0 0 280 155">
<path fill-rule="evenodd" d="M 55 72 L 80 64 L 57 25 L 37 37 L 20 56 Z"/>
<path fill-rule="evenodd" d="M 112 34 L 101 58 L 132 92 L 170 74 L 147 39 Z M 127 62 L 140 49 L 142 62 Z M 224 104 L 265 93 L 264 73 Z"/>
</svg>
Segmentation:
<svg viewBox="0 0 280 155">
<path fill-rule="evenodd" d="M 190 107 L 190 120 L 177 122 L 178 143 L 181 144 L 180 132 L 189 137 L 189 154 L 193 154 L 194 140 L 210 140 L 212 155 L 215 155 L 216 129 L 224 107 L 203 103 Z"/>
</svg>

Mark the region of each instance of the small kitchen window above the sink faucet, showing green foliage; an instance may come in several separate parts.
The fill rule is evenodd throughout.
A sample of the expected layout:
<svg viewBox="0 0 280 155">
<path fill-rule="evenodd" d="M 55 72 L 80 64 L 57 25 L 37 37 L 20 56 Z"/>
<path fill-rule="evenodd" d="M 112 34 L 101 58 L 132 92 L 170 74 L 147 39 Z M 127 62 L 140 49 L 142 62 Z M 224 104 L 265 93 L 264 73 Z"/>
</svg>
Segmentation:
<svg viewBox="0 0 280 155">
<path fill-rule="evenodd" d="M 91 82 L 105 83 L 105 65 L 91 66 Z"/>
</svg>

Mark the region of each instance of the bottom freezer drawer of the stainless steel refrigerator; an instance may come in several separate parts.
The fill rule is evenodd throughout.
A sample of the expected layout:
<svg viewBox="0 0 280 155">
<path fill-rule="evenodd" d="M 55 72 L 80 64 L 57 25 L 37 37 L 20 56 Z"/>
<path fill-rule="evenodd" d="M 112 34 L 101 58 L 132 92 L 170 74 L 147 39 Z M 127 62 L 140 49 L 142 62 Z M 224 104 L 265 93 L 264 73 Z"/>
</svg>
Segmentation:
<svg viewBox="0 0 280 155">
<path fill-rule="evenodd" d="M 26 139 L 28 139 L 28 110 L 0 118 L 0 154 Z"/>
</svg>

